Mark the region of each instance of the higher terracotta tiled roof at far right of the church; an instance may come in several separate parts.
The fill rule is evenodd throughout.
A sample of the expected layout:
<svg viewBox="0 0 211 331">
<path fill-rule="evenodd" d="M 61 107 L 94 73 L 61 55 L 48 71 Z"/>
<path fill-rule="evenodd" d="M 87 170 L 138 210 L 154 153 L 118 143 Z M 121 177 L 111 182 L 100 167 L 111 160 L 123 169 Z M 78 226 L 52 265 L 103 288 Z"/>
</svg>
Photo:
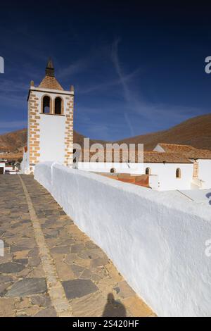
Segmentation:
<svg viewBox="0 0 211 331">
<path fill-rule="evenodd" d="M 186 156 L 186 158 L 210 158 L 211 151 L 207 149 L 196 149 L 189 145 L 179 144 L 158 144 L 166 153 L 179 153 Z"/>
</svg>

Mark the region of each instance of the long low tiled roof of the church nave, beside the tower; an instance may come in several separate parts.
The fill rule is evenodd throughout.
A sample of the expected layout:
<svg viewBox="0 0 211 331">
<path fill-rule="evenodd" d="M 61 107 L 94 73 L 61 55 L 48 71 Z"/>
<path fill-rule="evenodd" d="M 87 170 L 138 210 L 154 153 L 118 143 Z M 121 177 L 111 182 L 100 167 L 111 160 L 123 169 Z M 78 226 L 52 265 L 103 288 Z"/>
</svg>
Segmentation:
<svg viewBox="0 0 211 331">
<path fill-rule="evenodd" d="M 93 158 L 92 156 L 97 155 L 99 156 L 99 159 Z M 103 158 L 104 156 L 104 158 Z M 124 162 L 127 163 L 128 162 L 128 158 L 127 158 L 127 153 L 122 153 L 122 151 L 120 151 L 120 161 L 118 161 L 117 159 L 114 158 L 115 154 L 114 151 L 112 151 L 112 158 L 110 160 L 110 158 L 106 157 L 106 151 L 96 151 L 96 152 L 91 152 L 89 154 L 89 159 L 84 160 L 84 153 L 82 151 L 82 162 L 86 161 L 86 162 Z M 132 162 L 132 161 L 131 161 Z M 135 158 L 135 162 L 140 162 L 141 163 L 141 157 L 139 156 L 138 158 L 138 152 L 136 151 L 136 158 Z M 145 151 L 143 153 L 143 162 L 144 163 L 192 163 L 188 158 L 186 158 L 186 156 L 184 156 L 184 154 L 179 154 L 179 153 L 160 153 L 158 151 Z"/>
</svg>

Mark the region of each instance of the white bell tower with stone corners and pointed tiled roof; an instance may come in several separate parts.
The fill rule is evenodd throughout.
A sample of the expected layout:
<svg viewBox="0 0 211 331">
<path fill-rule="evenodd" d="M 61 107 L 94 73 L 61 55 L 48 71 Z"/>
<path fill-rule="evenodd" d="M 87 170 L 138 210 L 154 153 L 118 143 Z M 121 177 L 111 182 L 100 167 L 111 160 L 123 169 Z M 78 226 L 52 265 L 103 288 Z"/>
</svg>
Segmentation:
<svg viewBox="0 0 211 331">
<path fill-rule="evenodd" d="M 34 165 L 43 161 L 72 166 L 74 87 L 65 91 L 54 71 L 50 58 L 39 86 L 30 84 L 25 173 L 32 173 Z"/>
</svg>

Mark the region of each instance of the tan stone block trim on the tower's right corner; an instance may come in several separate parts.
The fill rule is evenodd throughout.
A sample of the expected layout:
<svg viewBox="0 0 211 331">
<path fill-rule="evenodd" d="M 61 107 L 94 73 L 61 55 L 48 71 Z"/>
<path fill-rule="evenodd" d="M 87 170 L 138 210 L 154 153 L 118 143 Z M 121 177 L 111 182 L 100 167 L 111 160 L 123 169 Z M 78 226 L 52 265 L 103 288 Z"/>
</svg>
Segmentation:
<svg viewBox="0 0 211 331">
<path fill-rule="evenodd" d="M 71 166 L 73 162 L 73 104 L 74 96 L 65 98 L 67 100 L 66 118 L 65 118 L 65 162 Z"/>
</svg>

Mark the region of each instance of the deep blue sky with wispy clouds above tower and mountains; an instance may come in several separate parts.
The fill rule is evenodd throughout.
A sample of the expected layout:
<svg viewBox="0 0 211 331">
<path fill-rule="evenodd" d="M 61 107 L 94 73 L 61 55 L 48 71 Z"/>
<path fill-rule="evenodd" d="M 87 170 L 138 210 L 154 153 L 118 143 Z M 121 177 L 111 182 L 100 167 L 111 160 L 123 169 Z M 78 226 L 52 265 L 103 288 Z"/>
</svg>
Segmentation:
<svg viewBox="0 0 211 331">
<path fill-rule="evenodd" d="M 27 126 L 27 90 L 46 61 L 75 85 L 75 130 L 121 139 L 210 113 L 207 5 L 141 1 L 4 1 L 0 133 Z M 149 1 L 148 1 L 149 2 Z"/>
</svg>

